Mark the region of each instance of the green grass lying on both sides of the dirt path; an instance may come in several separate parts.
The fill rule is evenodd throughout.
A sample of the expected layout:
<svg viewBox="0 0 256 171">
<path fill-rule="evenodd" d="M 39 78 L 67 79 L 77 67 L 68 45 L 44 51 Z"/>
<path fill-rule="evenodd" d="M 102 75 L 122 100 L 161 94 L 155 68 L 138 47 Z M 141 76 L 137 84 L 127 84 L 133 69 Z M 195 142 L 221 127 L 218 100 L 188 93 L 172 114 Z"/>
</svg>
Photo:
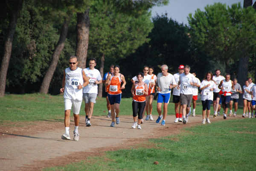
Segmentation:
<svg viewBox="0 0 256 171">
<path fill-rule="evenodd" d="M 105 98 L 97 98 L 93 115 L 106 115 Z M 198 103 L 200 104 L 200 102 Z M 156 114 L 156 101 L 153 104 Z M 131 115 L 131 99 L 122 99 L 122 115 Z M 63 96 L 41 94 L 6 95 L 0 98 L 0 124 L 64 119 Z M 201 105 L 197 105 L 201 114 Z M 84 103 L 81 106 L 84 115 Z M 239 114 L 242 108 L 239 108 Z M 168 114 L 174 113 L 169 104 Z M 10 125 L 11 126 L 11 125 Z M 171 171 L 171 170 L 237 170 L 256 168 L 256 119 L 233 119 L 183 128 L 178 135 L 151 139 L 129 149 L 107 151 L 101 157 L 89 157 L 64 167 L 45 168 L 45 171 Z M 148 148 L 145 148 L 145 144 Z M 158 165 L 153 162 L 158 161 Z"/>
</svg>

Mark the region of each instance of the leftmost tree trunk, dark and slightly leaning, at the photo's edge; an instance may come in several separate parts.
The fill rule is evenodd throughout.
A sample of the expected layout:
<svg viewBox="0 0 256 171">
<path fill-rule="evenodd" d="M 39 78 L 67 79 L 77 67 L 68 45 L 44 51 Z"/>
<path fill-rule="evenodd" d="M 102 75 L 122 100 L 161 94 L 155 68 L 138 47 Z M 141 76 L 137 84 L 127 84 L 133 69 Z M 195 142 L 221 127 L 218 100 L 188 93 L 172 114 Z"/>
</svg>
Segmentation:
<svg viewBox="0 0 256 171">
<path fill-rule="evenodd" d="M 0 97 L 4 96 L 6 87 L 6 76 L 8 71 L 8 66 L 12 54 L 12 40 L 15 33 L 15 28 L 17 24 L 18 17 L 20 15 L 20 10 L 22 9 L 23 0 L 17 0 L 15 2 L 14 9 L 9 18 L 9 26 L 6 32 L 6 40 L 3 52 L 2 65 L 0 69 Z"/>
</svg>

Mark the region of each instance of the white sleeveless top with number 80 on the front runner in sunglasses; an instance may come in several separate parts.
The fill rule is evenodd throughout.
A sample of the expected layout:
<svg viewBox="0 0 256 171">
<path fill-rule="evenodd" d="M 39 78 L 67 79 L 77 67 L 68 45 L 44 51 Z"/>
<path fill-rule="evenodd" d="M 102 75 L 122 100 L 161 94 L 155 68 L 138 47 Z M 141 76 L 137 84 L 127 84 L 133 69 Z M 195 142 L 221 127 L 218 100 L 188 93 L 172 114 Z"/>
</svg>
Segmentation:
<svg viewBox="0 0 256 171">
<path fill-rule="evenodd" d="M 71 70 L 70 68 L 65 69 L 65 90 L 64 98 L 73 100 L 83 100 L 83 88 L 80 90 L 77 88 L 78 85 L 83 85 L 84 79 L 82 74 L 82 69 L 77 67 L 76 70 Z"/>
</svg>

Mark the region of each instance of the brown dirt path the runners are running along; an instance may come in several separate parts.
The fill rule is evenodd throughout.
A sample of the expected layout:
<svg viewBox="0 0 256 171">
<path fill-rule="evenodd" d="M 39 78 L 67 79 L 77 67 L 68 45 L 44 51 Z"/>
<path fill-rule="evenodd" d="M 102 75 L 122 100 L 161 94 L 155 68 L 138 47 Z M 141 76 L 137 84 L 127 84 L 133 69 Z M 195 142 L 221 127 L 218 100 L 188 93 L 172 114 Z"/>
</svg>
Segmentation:
<svg viewBox="0 0 256 171">
<path fill-rule="evenodd" d="M 64 134 L 63 122 L 42 121 L 29 126 L 0 126 L 0 170 L 21 171 L 40 170 L 44 167 L 78 162 L 88 156 L 101 155 L 102 151 L 128 148 L 148 138 L 178 134 L 183 127 L 201 124 L 202 117 L 189 117 L 186 125 L 174 123 L 175 116 L 167 116 L 166 126 L 154 121 L 144 121 L 142 129 L 131 128 L 132 116 L 120 116 L 120 124 L 110 127 L 111 119 L 105 116 L 92 117 L 91 127 L 84 122 L 79 125 L 79 141 L 73 141 L 74 123 L 71 121 L 71 140 L 61 140 Z M 235 117 L 227 117 L 227 120 Z M 242 118 L 238 115 L 236 118 Z M 80 121 L 84 121 L 80 117 Z M 210 118 L 211 122 L 223 117 Z"/>
</svg>

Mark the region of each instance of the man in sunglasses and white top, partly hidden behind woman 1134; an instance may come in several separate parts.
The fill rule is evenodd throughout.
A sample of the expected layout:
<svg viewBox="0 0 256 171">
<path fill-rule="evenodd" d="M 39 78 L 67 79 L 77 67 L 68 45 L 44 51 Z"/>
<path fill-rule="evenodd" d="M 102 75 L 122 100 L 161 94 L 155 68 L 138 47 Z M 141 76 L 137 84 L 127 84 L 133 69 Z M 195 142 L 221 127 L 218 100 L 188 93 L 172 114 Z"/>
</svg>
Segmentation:
<svg viewBox="0 0 256 171">
<path fill-rule="evenodd" d="M 151 86 L 151 76 L 148 75 L 148 66 L 143 67 L 143 74 L 144 74 L 143 82 L 146 83 L 148 85 L 148 87 L 150 87 Z M 132 83 L 135 83 L 135 81 L 138 81 L 136 76 L 131 79 Z M 145 115 L 145 112 L 147 111 L 147 115 L 149 114 L 148 113 L 148 104 L 149 104 L 148 99 L 149 99 L 149 94 L 146 96 L 146 105 L 145 105 L 145 109 L 142 114 L 141 123 L 143 123 L 143 117 Z"/>
</svg>

